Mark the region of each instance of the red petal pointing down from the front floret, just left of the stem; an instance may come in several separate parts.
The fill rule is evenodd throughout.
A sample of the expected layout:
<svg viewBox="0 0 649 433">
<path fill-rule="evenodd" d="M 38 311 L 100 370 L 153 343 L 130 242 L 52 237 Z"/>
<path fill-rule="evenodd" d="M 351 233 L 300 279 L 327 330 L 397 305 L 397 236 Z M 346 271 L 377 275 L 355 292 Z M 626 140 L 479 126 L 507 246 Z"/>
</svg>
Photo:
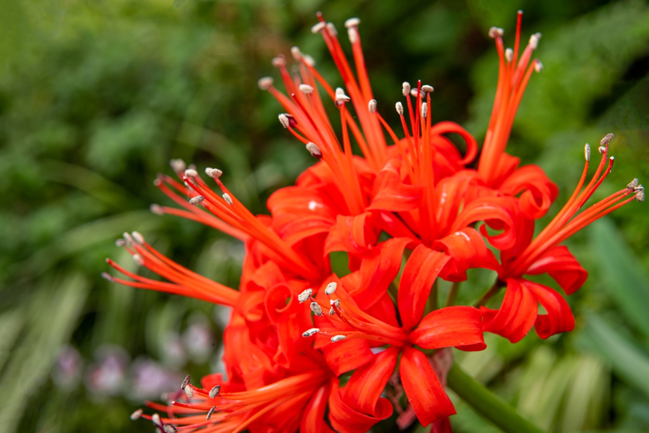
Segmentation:
<svg viewBox="0 0 649 433">
<path fill-rule="evenodd" d="M 426 355 L 412 347 L 404 348 L 399 375 L 408 401 L 424 427 L 456 413 Z"/>
</svg>

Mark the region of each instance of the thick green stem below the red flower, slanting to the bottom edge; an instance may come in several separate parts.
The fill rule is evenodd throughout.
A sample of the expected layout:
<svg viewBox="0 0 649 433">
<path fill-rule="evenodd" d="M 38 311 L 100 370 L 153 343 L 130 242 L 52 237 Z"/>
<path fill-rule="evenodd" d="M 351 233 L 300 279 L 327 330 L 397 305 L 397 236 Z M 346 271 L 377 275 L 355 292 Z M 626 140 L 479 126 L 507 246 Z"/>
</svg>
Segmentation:
<svg viewBox="0 0 649 433">
<path fill-rule="evenodd" d="M 514 408 L 487 390 L 483 384 L 453 364 L 447 376 L 448 388 L 455 391 L 478 414 L 489 419 L 506 433 L 543 433 Z"/>
</svg>

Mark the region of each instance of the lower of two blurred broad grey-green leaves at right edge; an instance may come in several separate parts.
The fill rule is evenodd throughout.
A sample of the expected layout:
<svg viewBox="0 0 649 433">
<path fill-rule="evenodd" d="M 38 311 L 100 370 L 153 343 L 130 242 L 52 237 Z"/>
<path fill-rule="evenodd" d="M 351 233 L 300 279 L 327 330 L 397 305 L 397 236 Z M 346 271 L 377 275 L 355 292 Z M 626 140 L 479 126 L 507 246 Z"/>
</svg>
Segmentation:
<svg viewBox="0 0 649 433">
<path fill-rule="evenodd" d="M 649 355 L 611 327 L 600 315 L 588 314 L 584 342 L 602 356 L 628 385 L 649 398 Z"/>
</svg>

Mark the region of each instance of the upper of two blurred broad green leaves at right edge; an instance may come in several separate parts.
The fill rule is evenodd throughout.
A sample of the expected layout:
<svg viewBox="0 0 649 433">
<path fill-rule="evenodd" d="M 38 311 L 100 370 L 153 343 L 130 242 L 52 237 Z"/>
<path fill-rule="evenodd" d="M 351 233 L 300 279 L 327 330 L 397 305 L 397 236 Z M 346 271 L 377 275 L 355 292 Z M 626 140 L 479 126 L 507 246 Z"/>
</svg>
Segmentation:
<svg viewBox="0 0 649 433">
<path fill-rule="evenodd" d="M 602 287 L 615 299 L 624 317 L 649 337 L 649 279 L 641 262 L 609 219 L 600 219 L 588 230 L 589 243 L 598 261 Z"/>
</svg>

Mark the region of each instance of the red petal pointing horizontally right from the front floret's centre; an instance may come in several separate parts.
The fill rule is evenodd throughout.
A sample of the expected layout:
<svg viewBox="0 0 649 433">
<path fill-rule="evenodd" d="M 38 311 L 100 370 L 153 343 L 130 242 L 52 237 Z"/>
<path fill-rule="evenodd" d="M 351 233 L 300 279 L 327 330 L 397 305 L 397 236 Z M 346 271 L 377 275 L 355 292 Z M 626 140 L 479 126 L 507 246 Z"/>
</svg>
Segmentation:
<svg viewBox="0 0 649 433">
<path fill-rule="evenodd" d="M 482 336 L 482 314 L 472 306 L 449 306 L 426 315 L 410 341 L 422 349 L 471 346 L 482 350 L 487 345 Z"/>
</svg>

